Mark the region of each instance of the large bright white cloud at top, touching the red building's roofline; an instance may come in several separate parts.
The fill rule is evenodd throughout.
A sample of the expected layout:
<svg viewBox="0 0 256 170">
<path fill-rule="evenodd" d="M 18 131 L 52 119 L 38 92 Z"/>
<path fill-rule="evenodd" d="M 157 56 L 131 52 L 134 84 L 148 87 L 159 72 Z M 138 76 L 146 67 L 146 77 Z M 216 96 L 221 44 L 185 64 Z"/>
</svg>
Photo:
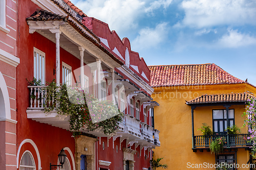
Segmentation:
<svg viewBox="0 0 256 170">
<path fill-rule="evenodd" d="M 147 12 L 167 8 L 173 0 L 78 0 L 75 5 L 90 17 L 108 23 L 119 34 L 137 28 Z"/>
</svg>

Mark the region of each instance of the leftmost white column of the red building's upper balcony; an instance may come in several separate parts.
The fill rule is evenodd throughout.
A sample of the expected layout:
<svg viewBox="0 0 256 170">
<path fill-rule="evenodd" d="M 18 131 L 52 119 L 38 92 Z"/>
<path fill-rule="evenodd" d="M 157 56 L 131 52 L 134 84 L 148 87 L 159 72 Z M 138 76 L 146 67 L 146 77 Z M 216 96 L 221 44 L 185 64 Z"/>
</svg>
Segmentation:
<svg viewBox="0 0 256 170">
<path fill-rule="evenodd" d="M 59 54 L 59 38 L 61 31 L 59 29 L 49 29 L 52 33 L 55 33 L 56 38 L 56 84 L 60 84 L 60 54 Z"/>
</svg>

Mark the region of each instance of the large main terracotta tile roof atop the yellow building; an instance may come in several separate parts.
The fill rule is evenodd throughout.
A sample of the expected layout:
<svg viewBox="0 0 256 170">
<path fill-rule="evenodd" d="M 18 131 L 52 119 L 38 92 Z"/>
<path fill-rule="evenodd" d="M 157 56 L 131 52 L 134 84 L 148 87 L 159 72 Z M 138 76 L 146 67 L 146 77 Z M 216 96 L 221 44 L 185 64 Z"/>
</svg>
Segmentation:
<svg viewBox="0 0 256 170">
<path fill-rule="evenodd" d="M 151 71 L 152 87 L 244 83 L 214 63 L 155 65 L 148 68 Z"/>
</svg>

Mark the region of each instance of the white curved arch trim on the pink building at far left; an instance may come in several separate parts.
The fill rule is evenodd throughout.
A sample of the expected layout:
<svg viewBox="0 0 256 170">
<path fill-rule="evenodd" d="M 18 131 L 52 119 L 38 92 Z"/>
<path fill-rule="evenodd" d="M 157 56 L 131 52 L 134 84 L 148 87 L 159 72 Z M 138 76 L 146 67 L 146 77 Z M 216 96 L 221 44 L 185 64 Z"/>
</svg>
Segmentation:
<svg viewBox="0 0 256 170">
<path fill-rule="evenodd" d="M 5 113 L 5 115 L 3 115 L 3 117 L 1 117 L 1 115 L 0 115 L 0 117 L 4 118 L 4 119 L 11 119 L 11 107 L 10 107 L 10 99 L 9 99 L 8 89 L 7 89 L 7 85 L 5 83 L 5 79 L 4 79 L 1 71 L 0 71 L 0 91 L 2 91 L 2 94 L 3 94 L 2 102 L 4 103 L 4 108 L 3 108 L 4 110 L 2 110 L 2 112 Z M 0 95 L 1 95 L 1 93 L 0 93 Z M 0 100 L 2 100 L 2 99 L 0 99 Z M 0 105 L 1 105 L 1 103 L 0 103 Z"/>
</svg>

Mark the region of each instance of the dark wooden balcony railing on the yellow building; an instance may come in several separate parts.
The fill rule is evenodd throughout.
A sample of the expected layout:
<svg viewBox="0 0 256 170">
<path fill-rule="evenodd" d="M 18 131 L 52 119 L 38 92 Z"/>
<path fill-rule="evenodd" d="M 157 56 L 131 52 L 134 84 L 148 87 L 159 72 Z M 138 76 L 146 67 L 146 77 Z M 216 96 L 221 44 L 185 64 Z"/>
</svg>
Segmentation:
<svg viewBox="0 0 256 170">
<path fill-rule="evenodd" d="M 224 137 L 226 139 L 224 147 L 246 147 L 248 145 L 251 145 L 250 142 L 247 142 L 247 137 L 249 135 L 250 134 L 225 134 L 194 136 L 194 148 L 209 147 L 210 143 L 219 137 Z"/>
</svg>

